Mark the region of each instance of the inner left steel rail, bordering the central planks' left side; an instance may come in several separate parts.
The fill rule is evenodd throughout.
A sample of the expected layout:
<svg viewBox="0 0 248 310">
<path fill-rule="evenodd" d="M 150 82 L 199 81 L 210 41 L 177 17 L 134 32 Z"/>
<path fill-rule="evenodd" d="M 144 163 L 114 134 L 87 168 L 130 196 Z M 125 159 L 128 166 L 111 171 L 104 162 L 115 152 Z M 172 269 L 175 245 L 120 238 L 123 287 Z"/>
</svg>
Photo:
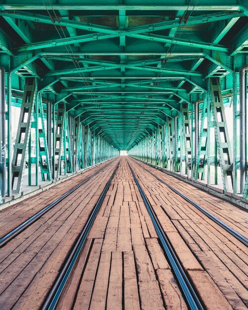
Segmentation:
<svg viewBox="0 0 248 310">
<path fill-rule="evenodd" d="M 72 247 L 68 257 L 66 258 L 65 260 L 65 263 L 62 267 L 62 269 L 60 270 L 59 272 L 59 275 L 57 277 L 57 279 L 55 280 L 55 282 L 53 283 L 53 286 L 51 287 L 50 289 L 50 293 L 46 299 L 46 301 L 44 302 L 41 310 L 53 310 L 55 309 L 57 303 L 58 303 L 58 300 L 59 300 L 59 297 L 66 285 L 66 282 L 71 274 L 71 271 L 75 265 L 75 262 L 84 246 L 84 242 L 87 238 L 87 235 L 94 223 L 94 220 L 98 214 L 98 211 L 99 211 L 99 208 L 103 202 L 103 199 L 107 193 L 107 190 L 110 186 L 110 183 L 118 169 L 118 166 L 120 164 L 120 161 L 118 162 L 116 168 L 114 169 L 114 172 L 112 173 L 110 179 L 108 180 L 106 186 L 104 187 L 100 197 L 99 197 L 99 200 L 98 202 L 96 203 L 96 205 L 94 206 L 84 228 L 82 229 L 76 243 L 74 244 L 74 246 Z"/>
</svg>

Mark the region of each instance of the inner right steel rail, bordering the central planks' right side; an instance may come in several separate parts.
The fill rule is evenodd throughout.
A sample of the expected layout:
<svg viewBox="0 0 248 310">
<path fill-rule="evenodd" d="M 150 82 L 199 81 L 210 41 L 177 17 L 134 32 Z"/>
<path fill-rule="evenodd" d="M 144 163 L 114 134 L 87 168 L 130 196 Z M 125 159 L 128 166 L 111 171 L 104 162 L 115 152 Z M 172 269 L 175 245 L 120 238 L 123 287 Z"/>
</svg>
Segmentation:
<svg viewBox="0 0 248 310">
<path fill-rule="evenodd" d="M 156 216 L 152 206 L 150 205 L 150 202 L 149 202 L 146 194 L 144 193 L 139 181 L 137 180 L 137 178 L 134 174 L 134 171 L 133 171 L 129 162 L 128 162 L 128 165 L 129 165 L 129 168 L 132 172 L 135 183 L 138 186 L 138 189 L 139 189 L 141 196 L 144 200 L 144 203 L 148 209 L 150 218 L 152 220 L 152 223 L 155 227 L 155 230 L 156 230 L 158 237 L 160 239 L 160 242 L 162 244 L 164 254 L 166 255 L 166 257 L 168 258 L 168 260 L 170 262 L 170 265 L 172 267 L 174 275 L 178 281 L 179 286 L 182 289 L 182 292 L 185 296 L 185 299 L 186 299 L 190 309 L 191 310 L 203 310 L 204 307 L 202 306 L 200 300 L 198 299 L 198 296 L 197 296 L 193 286 L 191 285 L 190 280 L 188 279 L 181 262 L 177 258 L 175 251 L 173 250 L 168 238 L 166 237 L 166 235 L 163 231 L 163 228 L 160 225 L 160 223 L 157 219 L 157 216 Z"/>
</svg>

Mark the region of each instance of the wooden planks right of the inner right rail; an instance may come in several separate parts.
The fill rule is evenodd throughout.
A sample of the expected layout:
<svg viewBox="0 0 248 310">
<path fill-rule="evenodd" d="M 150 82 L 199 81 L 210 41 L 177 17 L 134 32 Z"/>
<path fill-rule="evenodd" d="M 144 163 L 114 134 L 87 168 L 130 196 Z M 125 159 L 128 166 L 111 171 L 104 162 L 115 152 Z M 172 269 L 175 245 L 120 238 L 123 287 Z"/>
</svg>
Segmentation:
<svg viewBox="0 0 248 310">
<path fill-rule="evenodd" d="M 216 291 L 217 286 L 232 309 L 247 309 L 248 256 L 246 246 L 179 195 L 175 195 L 166 185 L 142 169 L 137 161 L 130 158 L 129 161 L 146 195 L 154 201 L 153 207 L 158 219 L 179 259 L 198 287 L 202 300 L 207 302 L 211 295 L 210 287 L 212 291 Z M 140 164 L 247 236 L 248 213 L 246 211 L 144 163 Z M 193 261 L 197 261 L 203 270 L 199 272 L 198 265 L 192 265 Z M 203 273 L 205 273 L 204 280 L 200 279 Z M 204 282 L 209 284 L 209 292 L 204 290 L 206 287 Z M 218 309 L 217 306 L 215 309 Z M 222 306 L 220 309 L 228 308 Z"/>
</svg>

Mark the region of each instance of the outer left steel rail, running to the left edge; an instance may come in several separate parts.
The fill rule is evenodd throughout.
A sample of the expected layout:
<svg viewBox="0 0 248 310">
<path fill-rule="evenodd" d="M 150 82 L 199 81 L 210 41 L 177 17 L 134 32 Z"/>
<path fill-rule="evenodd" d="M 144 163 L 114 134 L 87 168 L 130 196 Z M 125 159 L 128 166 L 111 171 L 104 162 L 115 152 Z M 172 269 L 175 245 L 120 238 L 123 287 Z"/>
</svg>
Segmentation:
<svg viewBox="0 0 248 310">
<path fill-rule="evenodd" d="M 72 189 L 70 189 L 68 192 L 54 200 L 52 203 L 50 203 L 48 206 L 44 207 L 42 210 L 31 216 L 29 219 L 27 219 L 25 222 L 21 223 L 19 226 L 15 227 L 13 230 L 11 230 L 9 233 L 4 235 L 0 238 L 0 248 L 5 246 L 11 239 L 19 235 L 23 230 L 25 230 L 28 226 L 36 222 L 41 216 L 43 216 L 46 212 L 48 212 L 52 207 L 56 206 L 58 203 L 60 203 L 63 199 L 65 199 L 67 196 L 72 194 L 75 190 L 77 190 L 80 186 L 88 182 L 91 178 L 93 178 L 95 175 L 97 175 L 100 171 L 102 171 L 104 168 L 110 165 L 111 162 L 106 164 L 104 167 L 99 169 L 97 172 L 93 173 L 91 176 L 89 176 L 87 179 L 83 180 L 82 182 L 78 183 L 76 186 L 74 186 Z"/>
</svg>

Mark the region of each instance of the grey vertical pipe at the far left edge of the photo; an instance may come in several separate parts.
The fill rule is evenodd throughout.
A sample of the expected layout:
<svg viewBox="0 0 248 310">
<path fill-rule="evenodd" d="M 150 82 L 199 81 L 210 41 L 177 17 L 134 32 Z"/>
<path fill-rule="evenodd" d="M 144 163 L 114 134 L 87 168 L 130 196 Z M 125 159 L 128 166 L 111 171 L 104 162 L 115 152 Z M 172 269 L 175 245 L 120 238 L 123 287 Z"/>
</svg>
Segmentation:
<svg viewBox="0 0 248 310">
<path fill-rule="evenodd" d="M 6 193 L 5 70 L 0 67 L 0 192 Z"/>
</svg>

